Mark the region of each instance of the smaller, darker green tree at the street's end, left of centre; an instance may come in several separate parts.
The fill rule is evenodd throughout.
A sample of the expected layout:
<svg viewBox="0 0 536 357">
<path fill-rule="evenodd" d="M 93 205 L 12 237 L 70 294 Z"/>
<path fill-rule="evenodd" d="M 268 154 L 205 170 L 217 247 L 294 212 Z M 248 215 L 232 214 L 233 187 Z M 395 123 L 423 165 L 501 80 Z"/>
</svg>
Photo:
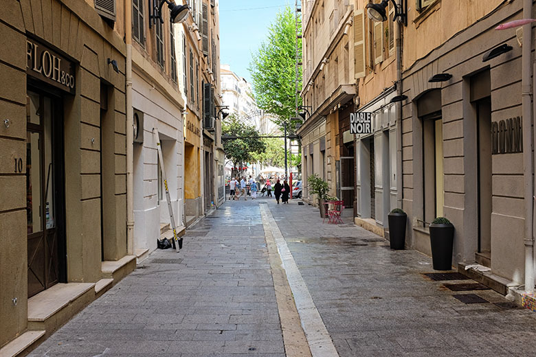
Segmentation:
<svg viewBox="0 0 536 357">
<path fill-rule="evenodd" d="M 236 114 L 227 117 L 221 127 L 222 135 L 236 136 L 238 139 L 223 140 L 225 156 L 235 166 L 254 161 L 254 156 L 266 148 L 263 139 L 254 126 Z"/>
</svg>

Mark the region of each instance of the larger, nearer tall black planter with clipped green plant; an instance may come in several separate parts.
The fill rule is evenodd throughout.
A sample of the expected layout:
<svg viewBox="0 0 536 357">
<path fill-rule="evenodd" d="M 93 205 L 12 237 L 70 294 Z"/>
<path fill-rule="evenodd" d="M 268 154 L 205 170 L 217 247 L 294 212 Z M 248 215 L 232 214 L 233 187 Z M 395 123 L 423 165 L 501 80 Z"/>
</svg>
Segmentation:
<svg viewBox="0 0 536 357">
<path fill-rule="evenodd" d="M 435 270 L 451 270 L 454 226 L 445 217 L 438 217 L 429 226 L 432 264 Z"/>
</svg>

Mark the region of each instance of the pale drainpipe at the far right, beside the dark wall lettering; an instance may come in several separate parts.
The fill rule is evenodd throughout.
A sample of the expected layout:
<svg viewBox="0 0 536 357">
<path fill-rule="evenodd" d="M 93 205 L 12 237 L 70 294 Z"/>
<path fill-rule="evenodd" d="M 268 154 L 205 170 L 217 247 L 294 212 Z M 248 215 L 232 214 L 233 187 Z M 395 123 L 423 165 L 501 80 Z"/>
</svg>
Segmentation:
<svg viewBox="0 0 536 357">
<path fill-rule="evenodd" d="M 524 0 L 523 19 L 533 17 L 533 0 Z M 523 26 L 522 49 L 522 111 L 523 111 L 523 166 L 525 187 L 525 291 L 534 292 L 534 238 L 533 238 L 533 154 L 531 106 L 531 50 L 532 25 Z"/>
</svg>

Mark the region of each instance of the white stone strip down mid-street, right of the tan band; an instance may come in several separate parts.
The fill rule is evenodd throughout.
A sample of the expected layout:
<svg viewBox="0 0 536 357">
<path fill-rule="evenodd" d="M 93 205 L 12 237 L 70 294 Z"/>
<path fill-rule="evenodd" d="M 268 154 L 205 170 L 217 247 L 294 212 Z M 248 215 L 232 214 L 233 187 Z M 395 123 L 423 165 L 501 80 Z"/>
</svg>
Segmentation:
<svg viewBox="0 0 536 357">
<path fill-rule="evenodd" d="M 298 270 L 298 266 L 294 261 L 289 246 L 287 246 L 287 242 L 284 240 L 276 220 L 273 219 L 267 205 L 259 206 L 263 221 L 268 223 L 273 239 L 278 246 L 279 255 L 285 273 L 287 273 L 287 280 L 294 296 L 298 314 L 300 314 L 300 321 L 307 338 L 307 343 L 309 343 L 311 354 L 313 357 L 338 357 L 337 349 L 333 345 L 326 325 L 324 325 L 324 321 L 320 317 L 320 313 L 313 302 L 313 298 L 307 289 L 302 274 Z"/>
</svg>

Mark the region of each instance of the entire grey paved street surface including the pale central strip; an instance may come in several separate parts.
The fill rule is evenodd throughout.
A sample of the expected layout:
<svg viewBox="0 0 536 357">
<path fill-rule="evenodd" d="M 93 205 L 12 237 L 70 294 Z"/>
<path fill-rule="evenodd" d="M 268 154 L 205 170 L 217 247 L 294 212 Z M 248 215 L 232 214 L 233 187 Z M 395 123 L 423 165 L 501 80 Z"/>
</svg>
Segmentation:
<svg viewBox="0 0 536 357">
<path fill-rule="evenodd" d="M 449 290 L 475 282 L 425 277 L 429 257 L 350 219 L 323 224 L 296 200 L 227 202 L 181 253 L 153 252 L 30 356 L 533 354 L 536 314 L 493 290 Z"/>
</svg>

